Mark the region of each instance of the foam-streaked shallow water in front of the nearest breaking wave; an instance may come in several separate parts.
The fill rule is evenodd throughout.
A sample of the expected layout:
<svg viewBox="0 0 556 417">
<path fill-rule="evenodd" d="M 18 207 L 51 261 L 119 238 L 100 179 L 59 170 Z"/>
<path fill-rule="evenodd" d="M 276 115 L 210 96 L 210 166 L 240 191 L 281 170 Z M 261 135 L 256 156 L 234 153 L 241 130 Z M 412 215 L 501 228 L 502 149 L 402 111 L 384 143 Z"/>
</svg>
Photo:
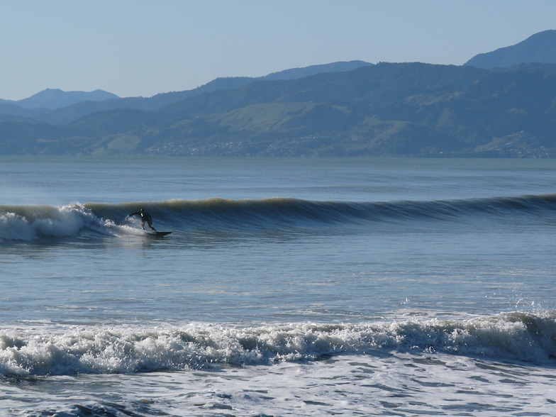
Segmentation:
<svg viewBox="0 0 556 417">
<path fill-rule="evenodd" d="M 553 374 L 447 354 L 337 355 L 218 372 L 49 376 L 30 389 L 3 386 L 0 413 L 550 416 Z"/>
</svg>

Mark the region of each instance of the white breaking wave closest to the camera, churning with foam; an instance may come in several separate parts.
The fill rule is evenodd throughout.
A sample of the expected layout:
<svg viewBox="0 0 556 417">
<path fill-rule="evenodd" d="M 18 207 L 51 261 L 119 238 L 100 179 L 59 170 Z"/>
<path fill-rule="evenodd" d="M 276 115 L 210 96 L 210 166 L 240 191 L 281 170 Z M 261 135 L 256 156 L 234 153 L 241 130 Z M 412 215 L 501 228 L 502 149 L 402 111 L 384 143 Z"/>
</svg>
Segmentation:
<svg viewBox="0 0 556 417">
<path fill-rule="evenodd" d="M 0 374 L 134 373 L 396 351 L 553 363 L 556 311 L 468 321 L 296 323 L 257 328 L 192 324 L 150 330 L 90 328 L 56 335 L 4 330 L 0 332 Z"/>
</svg>

